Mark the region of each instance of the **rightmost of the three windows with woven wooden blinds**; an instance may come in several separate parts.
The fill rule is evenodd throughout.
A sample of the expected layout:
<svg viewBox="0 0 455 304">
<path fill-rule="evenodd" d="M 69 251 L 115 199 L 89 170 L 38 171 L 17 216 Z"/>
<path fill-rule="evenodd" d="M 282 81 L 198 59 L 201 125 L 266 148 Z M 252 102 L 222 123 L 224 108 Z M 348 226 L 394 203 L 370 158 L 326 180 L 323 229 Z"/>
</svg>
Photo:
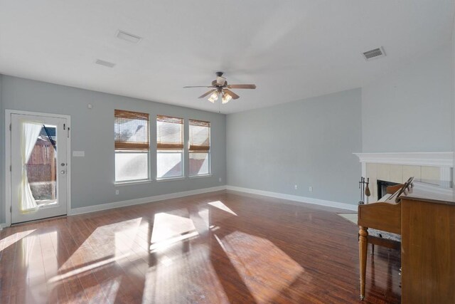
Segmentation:
<svg viewBox="0 0 455 304">
<path fill-rule="evenodd" d="M 210 122 L 190 120 L 190 176 L 210 174 Z"/>
</svg>

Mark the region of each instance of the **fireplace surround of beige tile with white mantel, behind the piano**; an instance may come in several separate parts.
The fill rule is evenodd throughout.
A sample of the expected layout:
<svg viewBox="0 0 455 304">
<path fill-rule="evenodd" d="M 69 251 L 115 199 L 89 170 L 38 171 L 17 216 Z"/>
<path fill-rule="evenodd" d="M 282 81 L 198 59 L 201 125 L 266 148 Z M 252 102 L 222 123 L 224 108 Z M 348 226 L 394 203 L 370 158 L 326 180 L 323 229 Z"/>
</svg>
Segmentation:
<svg viewBox="0 0 455 304">
<path fill-rule="evenodd" d="M 362 176 L 370 178 L 371 196 L 378 197 L 377 180 L 402 183 L 409 177 L 453 182 L 454 152 L 354 153 L 362 163 Z M 359 177 L 360 179 L 360 177 Z"/>
</svg>

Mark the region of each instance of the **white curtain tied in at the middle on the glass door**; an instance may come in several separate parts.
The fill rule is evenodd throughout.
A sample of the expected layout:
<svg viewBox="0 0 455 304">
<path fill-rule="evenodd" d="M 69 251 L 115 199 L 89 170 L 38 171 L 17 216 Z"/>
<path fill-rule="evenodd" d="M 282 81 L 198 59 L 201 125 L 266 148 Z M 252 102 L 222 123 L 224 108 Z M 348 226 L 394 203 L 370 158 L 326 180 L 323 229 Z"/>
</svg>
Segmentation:
<svg viewBox="0 0 455 304">
<path fill-rule="evenodd" d="M 21 160 L 22 160 L 22 180 L 20 190 L 21 212 L 26 213 L 38 208 L 27 177 L 27 162 L 35 147 L 38 135 L 43 127 L 43 122 L 23 121 L 21 123 Z"/>
</svg>

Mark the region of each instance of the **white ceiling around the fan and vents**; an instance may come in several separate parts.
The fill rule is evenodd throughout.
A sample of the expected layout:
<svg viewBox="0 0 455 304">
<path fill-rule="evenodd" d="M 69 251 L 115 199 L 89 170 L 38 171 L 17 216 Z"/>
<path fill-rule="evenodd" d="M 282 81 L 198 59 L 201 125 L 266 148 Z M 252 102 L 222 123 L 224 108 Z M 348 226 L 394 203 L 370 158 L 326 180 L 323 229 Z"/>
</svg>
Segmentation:
<svg viewBox="0 0 455 304">
<path fill-rule="evenodd" d="M 358 88 L 448 43 L 453 18 L 452 0 L 0 0 L 0 73 L 240 112 Z M 363 59 L 379 46 L 387 57 Z M 217 70 L 257 89 L 213 105 L 182 88 Z"/>
</svg>

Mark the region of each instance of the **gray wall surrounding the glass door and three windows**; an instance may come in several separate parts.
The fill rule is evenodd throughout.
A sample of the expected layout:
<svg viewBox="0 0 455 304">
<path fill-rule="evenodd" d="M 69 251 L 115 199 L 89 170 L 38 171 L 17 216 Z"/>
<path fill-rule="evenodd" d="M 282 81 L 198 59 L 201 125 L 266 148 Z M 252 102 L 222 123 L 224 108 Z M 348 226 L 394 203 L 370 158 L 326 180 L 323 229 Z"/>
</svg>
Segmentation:
<svg viewBox="0 0 455 304">
<path fill-rule="evenodd" d="M 225 115 L 6 75 L 2 76 L 1 84 L 1 142 L 4 142 L 5 109 L 71 115 L 71 148 L 85 151 L 85 157 L 72 157 L 71 203 L 73 208 L 225 184 Z M 87 108 L 88 103 L 93 105 L 92 110 Z M 156 115 L 210 121 L 213 176 L 114 187 L 114 109 L 116 108 L 150 113 L 151 172 L 156 172 L 154 169 L 156 164 L 153 160 L 155 149 L 153 143 L 156 140 L 154 117 Z M 186 134 L 188 134 L 188 130 L 186 130 Z M 3 168 L 5 164 L 4 149 L 4 145 L 1 145 L 0 168 Z M 186 167 L 188 168 L 188 164 Z M 222 179 L 222 182 L 219 182 L 219 178 Z M 0 222 L 5 221 L 4 184 L 5 173 L 4 169 L 1 169 Z M 119 195 L 115 195 L 115 189 L 119 189 Z"/>
</svg>

